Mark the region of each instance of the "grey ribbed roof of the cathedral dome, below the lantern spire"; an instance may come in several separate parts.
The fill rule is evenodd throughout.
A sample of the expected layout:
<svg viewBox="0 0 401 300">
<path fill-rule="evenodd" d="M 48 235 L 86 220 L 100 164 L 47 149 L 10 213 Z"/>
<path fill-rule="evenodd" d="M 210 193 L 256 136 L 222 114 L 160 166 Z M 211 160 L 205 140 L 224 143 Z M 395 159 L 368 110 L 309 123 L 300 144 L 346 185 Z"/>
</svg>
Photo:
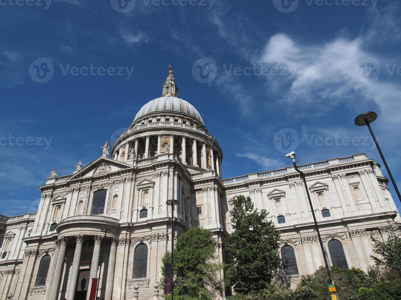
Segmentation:
<svg viewBox="0 0 401 300">
<path fill-rule="evenodd" d="M 186 114 L 191 116 L 192 118 L 197 119 L 199 122 L 203 123 L 201 114 L 192 106 L 183 99 L 173 97 L 173 96 L 163 96 L 160 98 L 153 99 L 146 103 L 139 112 L 136 114 L 134 122 L 141 118 L 142 116 L 146 116 L 147 114 L 153 114 L 155 112 L 175 112 L 180 114 Z"/>
</svg>

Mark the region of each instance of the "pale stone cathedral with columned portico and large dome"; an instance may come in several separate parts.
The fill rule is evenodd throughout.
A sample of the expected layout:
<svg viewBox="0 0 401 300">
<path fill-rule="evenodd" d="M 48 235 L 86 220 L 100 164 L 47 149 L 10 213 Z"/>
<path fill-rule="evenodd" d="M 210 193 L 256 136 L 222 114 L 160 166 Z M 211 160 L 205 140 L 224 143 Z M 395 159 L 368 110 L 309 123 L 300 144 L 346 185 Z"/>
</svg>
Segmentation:
<svg viewBox="0 0 401 300">
<path fill-rule="evenodd" d="M 228 260 L 229 211 L 241 194 L 282 232 L 277 274 L 288 286 L 324 264 L 299 173 L 290 166 L 222 178 L 223 150 L 194 106 L 178 98 L 171 67 L 162 97 L 101 148 L 72 174 L 51 171 L 36 213 L 0 215 L 0 300 L 89 300 L 92 288 L 99 300 L 161 299 L 161 259 L 189 228 L 211 230 L 217 259 Z M 329 264 L 366 272 L 371 236 L 385 240 L 388 222 L 400 221 L 379 164 L 354 154 L 299 168 Z M 170 199 L 178 200 L 174 236 Z M 224 293 L 219 298 L 232 289 Z"/>
</svg>

